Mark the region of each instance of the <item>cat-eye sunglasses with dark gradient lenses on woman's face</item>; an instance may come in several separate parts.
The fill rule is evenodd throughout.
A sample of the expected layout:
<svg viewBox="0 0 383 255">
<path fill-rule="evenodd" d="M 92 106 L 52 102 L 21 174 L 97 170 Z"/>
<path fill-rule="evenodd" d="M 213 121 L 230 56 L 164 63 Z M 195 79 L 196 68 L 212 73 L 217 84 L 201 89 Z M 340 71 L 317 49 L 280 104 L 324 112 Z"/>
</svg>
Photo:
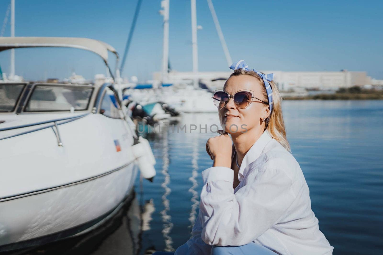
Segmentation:
<svg viewBox="0 0 383 255">
<path fill-rule="evenodd" d="M 240 90 L 234 93 L 234 95 L 229 95 L 229 93 L 223 91 L 222 89 L 219 89 L 213 92 L 213 96 L 211 98 L 213 98 L 214 105 L 219 109 L 222 109 L 226 106 L 226 104 L 229 102 L 230 97 L 233 98 L 236 107 L 241 109 L 246 108 L 252 102 L 260 102 L 268 105 L 268 102 L 265 102 L 253 95 L 254 92 L 251 90 Z M 258 99 L 259 101 L 251 101 L 253 98 Z"/>
</svg>

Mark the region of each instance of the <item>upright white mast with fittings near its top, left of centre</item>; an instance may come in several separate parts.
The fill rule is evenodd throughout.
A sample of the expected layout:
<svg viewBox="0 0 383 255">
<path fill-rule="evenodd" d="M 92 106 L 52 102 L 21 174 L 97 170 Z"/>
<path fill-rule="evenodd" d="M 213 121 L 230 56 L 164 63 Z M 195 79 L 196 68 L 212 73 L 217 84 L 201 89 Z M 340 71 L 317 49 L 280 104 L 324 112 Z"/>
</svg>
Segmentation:
<svg viewBox="0 0 383 255">
<path fill-rule="evenodd" d="M 160 14 L 164 16 L 164 49 L 162 50 L 162 82 L 168 80 L 169 67 L 169 0 L 161 1 Z"/>
</svg>

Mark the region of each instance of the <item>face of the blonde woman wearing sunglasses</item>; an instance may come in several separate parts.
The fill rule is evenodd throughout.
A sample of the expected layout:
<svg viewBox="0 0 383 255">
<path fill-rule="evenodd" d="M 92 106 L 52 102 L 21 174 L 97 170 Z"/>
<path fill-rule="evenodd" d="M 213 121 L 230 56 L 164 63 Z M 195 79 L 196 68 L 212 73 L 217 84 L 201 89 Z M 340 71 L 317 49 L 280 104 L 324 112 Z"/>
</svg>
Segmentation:
<svg viewBox="0 0 383 255">
<path fill-rule="evenodd" d="M 262 92 L 261 82 L 250 75 L 231 76 L 225 83 L 223 90 L 230 95 L 234 95 L 242 89 L 254 92 L 254 97 L 267 102 Z M 249 106 L 245 109 L 237 108 L 231 97 L 227 104 L 218 110 L 219 120 L 225 132 L 234 134 L 237 132 L 247 132 L 253 129 L 264 128 L 263 118 L 270 115 L 268 105 L 260 102 L 258 99 L 251 98 Z M 263 124 L 263 125 L 262 125 Z M 246 131 L 247 130 L 247 131 Z M 262 130 L 263 131 L 263 130 Z"/>
</svg>

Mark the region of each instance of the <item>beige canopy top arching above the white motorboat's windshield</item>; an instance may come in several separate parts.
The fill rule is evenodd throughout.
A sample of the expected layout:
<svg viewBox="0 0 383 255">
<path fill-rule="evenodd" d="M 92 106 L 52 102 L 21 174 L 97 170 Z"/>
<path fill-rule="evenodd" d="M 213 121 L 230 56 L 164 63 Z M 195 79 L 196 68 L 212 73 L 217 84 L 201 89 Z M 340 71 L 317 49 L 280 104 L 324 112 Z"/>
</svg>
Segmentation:
<svg viewBox="0 0 383 255">
<path fill-rule="evenodd" d="M 115 80 L 115 76 L 108 64 L 108 51 L 116 56 L 116 70 L 118 70 L 119 55 L 116 49 L 106 42 L 81 37 L 0 37 L 0 52 L 9 49 L 34 47 L 68 47 L 91 51 L 104 60 L 110 75 Z"/>
</svg>

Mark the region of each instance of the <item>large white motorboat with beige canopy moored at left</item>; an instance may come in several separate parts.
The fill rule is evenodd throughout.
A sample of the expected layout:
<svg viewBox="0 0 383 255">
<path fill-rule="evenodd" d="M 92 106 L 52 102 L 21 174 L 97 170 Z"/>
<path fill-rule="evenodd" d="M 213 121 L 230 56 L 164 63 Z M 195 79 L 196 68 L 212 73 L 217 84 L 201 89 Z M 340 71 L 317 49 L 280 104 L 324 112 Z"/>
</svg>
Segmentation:
<svg viewBox="0 0 383 255">
<path fill-rule="evenodd" d="M 0 51 L 20 47 L 90 50 L 107 66 L 108 50 L 118 56 L 86 38 L 0 38 Z M 151 148 L 131 124 L 110 83 L 1 83 L 0 252 L 90 231 L 118 211 L 138 169 L 152 178 Z"/>
</svg>

